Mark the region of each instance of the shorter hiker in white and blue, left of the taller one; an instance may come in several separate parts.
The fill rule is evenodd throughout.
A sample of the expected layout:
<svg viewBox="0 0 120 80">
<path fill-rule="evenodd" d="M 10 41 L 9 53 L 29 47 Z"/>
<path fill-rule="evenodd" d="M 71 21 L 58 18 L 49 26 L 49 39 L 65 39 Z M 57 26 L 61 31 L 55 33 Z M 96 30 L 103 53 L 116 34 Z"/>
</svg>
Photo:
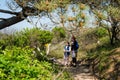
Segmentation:
<svg viewBox="0 0 120 80">
<path fill-rule="evenodd" d="M 66 42 L 66 45 L 64 46 L 64 65 L 69 65 L 69 56 L 71 52 L 71 46 L 69 42 Z"/>
</svg>

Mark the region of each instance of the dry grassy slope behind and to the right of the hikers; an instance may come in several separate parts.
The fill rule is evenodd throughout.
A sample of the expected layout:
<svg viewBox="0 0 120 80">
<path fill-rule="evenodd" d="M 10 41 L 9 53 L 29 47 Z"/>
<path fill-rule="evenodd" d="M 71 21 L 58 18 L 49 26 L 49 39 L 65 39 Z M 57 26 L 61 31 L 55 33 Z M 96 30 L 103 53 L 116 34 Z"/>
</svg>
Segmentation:
<svg viewBox="0 0 120 80">
<path fill-rule="evenodd" d="M 107 34 L 99 37 L 96 36 L 94 32 L 94 29 L 86 30 L 85 33 L 80 34 L 80 37 L 77 38 L 80 45 L 78 60 L 92 58 L 93 61 L 98 61 L 95 65 L 95 71 L 100 74 L 100 77 L 108 80 L 110 75 L 116 74 L 116 72 L 113 71 L 116 68 L 115 64 L 120 63 L 120 43 L 118 42 L 115 45 L 111 45 Z M 99 43 L 97 43 L 97 41 L 99 41 Z M 52 50 L 49 55 L 56 58 L 63 58 L 63 46 L 64 42 L 52 45 Z M 116 62 L 113 58 L 116 59 Z"/>
</svg>

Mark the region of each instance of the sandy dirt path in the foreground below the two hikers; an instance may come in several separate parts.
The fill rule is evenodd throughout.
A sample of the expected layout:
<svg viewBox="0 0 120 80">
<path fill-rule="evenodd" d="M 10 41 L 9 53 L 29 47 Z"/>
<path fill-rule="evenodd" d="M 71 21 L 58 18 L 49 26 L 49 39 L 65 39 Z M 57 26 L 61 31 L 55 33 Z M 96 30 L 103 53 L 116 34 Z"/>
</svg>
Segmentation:
<svg viewBox="0 0 120 80">
<path fill-rule="evenodd" d="M 59 59 L 57 61 L 63 64 L 62 59 Z M 87 64 L 78 63 L 76 67 L 66 67 L 66 69 L 71 73 L 74 80 L 98 80 L 92 75 Z"/>
</svg>

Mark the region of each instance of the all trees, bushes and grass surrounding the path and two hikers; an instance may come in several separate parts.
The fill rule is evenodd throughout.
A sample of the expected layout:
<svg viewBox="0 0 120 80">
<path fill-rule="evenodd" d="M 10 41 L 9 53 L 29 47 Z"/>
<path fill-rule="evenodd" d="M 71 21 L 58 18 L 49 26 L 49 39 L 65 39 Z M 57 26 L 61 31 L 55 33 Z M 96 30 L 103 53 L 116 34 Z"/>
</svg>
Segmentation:
<svg viewBox="0 0 120 80">
<path fill-rule="evenodd" d="M 48 57 L 44 57 L 45 44 L 59 42 L 57 48 L 53 45 L 52 50 L 56 51 L 51 51 L 51 56 L 61 57 L 59 54 L 62 54 L 61 45 L 64 44 L 62 41 L 66 40 L 66 34 L 75 34 L 80 44 L 79 52 L 84 55 L 80 56 L 80 59 L 88 61 L 91 70 L 100 79 L 117 80 L 120 74 L 119 5 L 120 0 L 12 0 L 8 6 L 13 11 L 0 9 L 0 12 L 14 16 L 8 19 L 0 18 L 0 29 L 20 22 L 28 16 L 47 16 L 51 22 L 63 28 L 54 28 L 52 32 L 35 28 L 13 35 L 0 34 L 0 78 L 46 79 L 47 76 L 48 79 L 52 79 L 59 70 L 53 70 L 53 64 L 48 61 Z M 15 12 L 17 8 L 21 8 L 21 11 Z M 85 28 L 85 9 L 88 10 L 88 14 L 95 16 L 97 28 Z M 58 18 L 52 15 L 54 12 Z M 72 15 L 68 15 L 68 12 L 72 12 Z M 110 27 L 103 25 L 103 21 L 106 24 L 110 23 Z M 39 52 L 37 48 L 40 49 Z M 33 50 L 37 53 L 35 55 L 39 61 L 34 58 Z M 59 79 L 62 80 L 63 77 L 68 79 L 69 75 L 64 72 Z"/>
</svg>

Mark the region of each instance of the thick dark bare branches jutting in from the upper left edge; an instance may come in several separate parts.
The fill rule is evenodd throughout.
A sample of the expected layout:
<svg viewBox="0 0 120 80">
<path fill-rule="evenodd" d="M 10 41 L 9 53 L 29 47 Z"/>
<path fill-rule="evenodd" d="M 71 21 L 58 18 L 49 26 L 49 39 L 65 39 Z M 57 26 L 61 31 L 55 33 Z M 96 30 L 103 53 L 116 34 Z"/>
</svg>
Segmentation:
<svg viewBox="0 0 120 80">
<path fill-rule="evenodd" d="M 7 18 L 7 19 L 1 18 L 0 29 L 9 27 L 13 24 L 16 24 L 16 23 L 24 20 L 25 18 L 27 18 L 27 16 L 34 14 L 35 11 L 36 10 L 34 8 L 30 8 L 30 7 L 24 7 L 21 12 L 12 12 L 12 11 L 8 11 L 8 10 L 0 9 L 1 13 L 15 15 L 15 16 L 13 16 L 11 18 Z"/>
</svg>

